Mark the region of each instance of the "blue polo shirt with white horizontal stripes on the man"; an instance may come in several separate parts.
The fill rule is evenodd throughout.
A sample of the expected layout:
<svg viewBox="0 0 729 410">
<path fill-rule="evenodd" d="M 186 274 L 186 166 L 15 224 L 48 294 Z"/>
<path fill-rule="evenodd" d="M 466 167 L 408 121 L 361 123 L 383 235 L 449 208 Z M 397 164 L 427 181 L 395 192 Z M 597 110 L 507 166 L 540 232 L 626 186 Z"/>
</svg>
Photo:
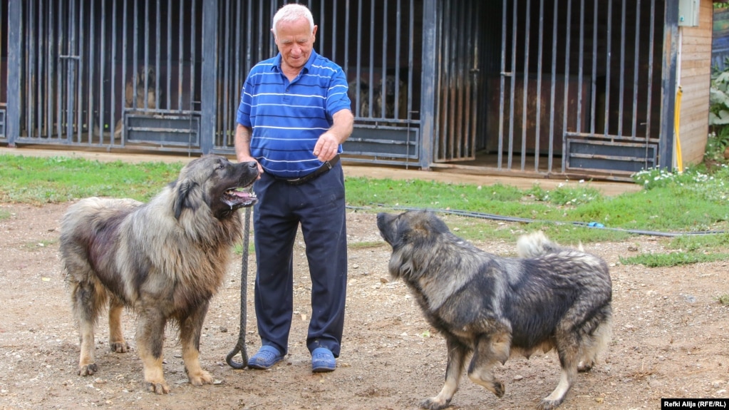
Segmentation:
<svg viewBox="0 0 729 410">
<path fill-rule="evenodd" d="M 332 115 L 350 107 L 340 66 L 312 49 L 306 65 L 289 82 L 281 71 L 279 53 L 257 63 L 248 74 L 238 123 L 253 128 L 251 155 L 267 173 L 298 178 L 322 165 L 313 155 L 314 145 L 332 126 Z"/>
</svg>

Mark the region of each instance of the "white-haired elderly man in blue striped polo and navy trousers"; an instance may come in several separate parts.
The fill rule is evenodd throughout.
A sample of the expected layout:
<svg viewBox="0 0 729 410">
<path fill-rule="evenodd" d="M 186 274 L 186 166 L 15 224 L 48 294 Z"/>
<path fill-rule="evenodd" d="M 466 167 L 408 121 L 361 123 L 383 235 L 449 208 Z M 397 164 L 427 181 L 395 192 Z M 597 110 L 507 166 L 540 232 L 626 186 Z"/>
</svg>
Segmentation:
<svg viewBox="0 0 729 410">
<path fill-rule="evenodd" d="M 293 246 L 299 225 L 311 276 L 306 345 L 312 371 L 333 371 L 344 325 L 347 281 L 344 177 L 339 154 L 354 123 L 340 66 L 313 50 L 308 8 L 273 17 L 278 55 L 251 69 L 241 91 L 235 152 L 255 160 L 255 308 L 261 348 L 249 367 L 266 369 L 288 351 Z"/>
</svg>

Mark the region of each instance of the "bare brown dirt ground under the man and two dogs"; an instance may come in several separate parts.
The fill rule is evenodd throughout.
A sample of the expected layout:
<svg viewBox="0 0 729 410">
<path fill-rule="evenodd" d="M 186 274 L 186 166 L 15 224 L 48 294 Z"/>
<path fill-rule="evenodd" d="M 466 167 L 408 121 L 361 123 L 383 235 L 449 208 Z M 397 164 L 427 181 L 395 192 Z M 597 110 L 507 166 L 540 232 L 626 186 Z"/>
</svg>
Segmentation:
<svg viewBox="0 0 729 410">
<path fill-rule="evenodd" d="M 0 204 L 0 213 L 9 214 L 0 219 L 0 409 L 417 409 L 421 399 L 440 390 L 445 342 L 426 324 L 405 285 L 389 280 L 390 249 L 378 235 L 375 214 L 354 210 L 348 214 L 346 328 L 336 371 L 311 372 L 304 343 L 310 282 L 299 242 L 289 355 L 272 369 L 236 370 L 225 363 L 238 340 L 238 262 L 228 268 L 225 285 L 211 302 L 201 340 L 201 363 L 215 384 L 187 383 L 179 344 L 168 330 L 165 376 L 171 393 L 145 391 L 130 314 L 125 314 L 125 337 L 131 351 L 109 352 L 102 317 L 99 371 L 78 376 L 78 333 L 58 258 L 59 221 L 68 205 Z M 483 223 L 511 230 L 512 241 L 477 244 L 502 255 L 513 253 L 516 236 L 528 228 L 444 219 L 451 228 Z M 380 244 L 362 246 L 372 242 Z M 601 363 L 580 374 L 561 409 L 660 409 L 660 398 L 729 397 L 729 307 L 715 299 L 729 293 L 729 264 L 621 265 L 620 255 L 665 251 L 663 239 L 648 236 L 588 244 L 586 250 L 611 266 L 613 338 Z M 254 258 L 249 262 L 252 284 Z M 248 295 L 246 347 L 252 355 L 260 343 L 252 286 Z M 451 409 L 534 408 L 558 382 L 559 366 L 555 352 L 548 352 L 529 360 L 513 357 L 496 372 L 506 385 L 503 398 L 464 377 Z"/>
</svg>

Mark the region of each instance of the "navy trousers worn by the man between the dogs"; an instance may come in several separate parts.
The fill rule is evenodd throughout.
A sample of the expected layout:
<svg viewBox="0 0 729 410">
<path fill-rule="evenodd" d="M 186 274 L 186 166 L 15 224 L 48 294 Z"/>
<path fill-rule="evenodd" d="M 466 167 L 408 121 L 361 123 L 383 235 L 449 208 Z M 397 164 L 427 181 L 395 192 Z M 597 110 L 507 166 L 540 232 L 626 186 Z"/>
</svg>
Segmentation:
<svg viewBox="0 0 729 410">
<path fill-rule="evenodd" d="M 339 357 L 347 286 L 344 174 L 341 163 L 302 185 L 262 174 L 254 190 L 257 274 L 254 288 L 263 345 L 288 351 L 293 314 L 293 247 L 301 225 L 311 276 L 306 345 Z"/>
</svg>

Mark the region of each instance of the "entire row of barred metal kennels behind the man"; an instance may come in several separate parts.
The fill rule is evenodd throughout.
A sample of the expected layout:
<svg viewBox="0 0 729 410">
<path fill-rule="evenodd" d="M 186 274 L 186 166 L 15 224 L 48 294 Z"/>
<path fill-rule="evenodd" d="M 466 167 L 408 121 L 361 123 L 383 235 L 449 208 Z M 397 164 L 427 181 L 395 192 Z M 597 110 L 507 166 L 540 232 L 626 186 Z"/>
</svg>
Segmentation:
<svg viewBox="0 0 729 410">
<path fill-rule="evenodd" d="M 348 76 L 346 160 L 630 174 L 657 165 L 666 1 L 303 2 Z M 0 139 L 232 155 L 285 2 L 0 0 Z"/>
</svg>

